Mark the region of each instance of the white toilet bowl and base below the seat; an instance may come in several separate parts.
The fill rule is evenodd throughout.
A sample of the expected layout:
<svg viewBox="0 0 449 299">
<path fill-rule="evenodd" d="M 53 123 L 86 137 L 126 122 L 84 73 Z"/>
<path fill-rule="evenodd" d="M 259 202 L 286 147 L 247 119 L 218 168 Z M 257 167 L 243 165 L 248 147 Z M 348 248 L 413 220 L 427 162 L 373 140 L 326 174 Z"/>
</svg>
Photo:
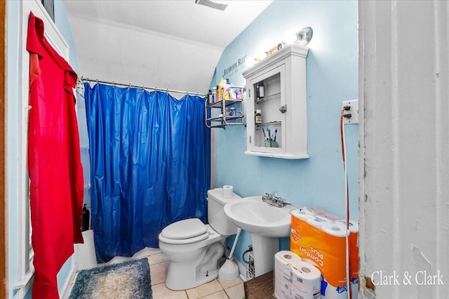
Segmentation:
<svg viewBox="0 0 449 299">
<path fill-rule="evenodd" d="M 173 291 L 187 290 L 213 281 L 218 277 L 218 260 L 225 253 L 220 242 L 208 246 L 203 257 L 190 263 L 170 261 L 166 277 L 166 286 Z"/>
</svg>

